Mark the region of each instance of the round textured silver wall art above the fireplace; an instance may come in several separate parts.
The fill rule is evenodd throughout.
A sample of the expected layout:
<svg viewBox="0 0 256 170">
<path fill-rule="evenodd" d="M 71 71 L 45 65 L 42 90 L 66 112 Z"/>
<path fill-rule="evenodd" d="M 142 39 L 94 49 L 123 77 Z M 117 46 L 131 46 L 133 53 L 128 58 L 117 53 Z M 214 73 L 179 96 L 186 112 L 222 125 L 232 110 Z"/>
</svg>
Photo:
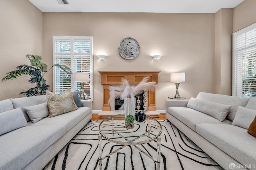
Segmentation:
<svg viewBox="0 0 256 170">
<path fill-rule="evenodd" d="M 125 59 L 134 59 L 140 53 L 140 45 L 134 38 L 124 38 L 118 46 L 120 55 Z"/>
</svg>

